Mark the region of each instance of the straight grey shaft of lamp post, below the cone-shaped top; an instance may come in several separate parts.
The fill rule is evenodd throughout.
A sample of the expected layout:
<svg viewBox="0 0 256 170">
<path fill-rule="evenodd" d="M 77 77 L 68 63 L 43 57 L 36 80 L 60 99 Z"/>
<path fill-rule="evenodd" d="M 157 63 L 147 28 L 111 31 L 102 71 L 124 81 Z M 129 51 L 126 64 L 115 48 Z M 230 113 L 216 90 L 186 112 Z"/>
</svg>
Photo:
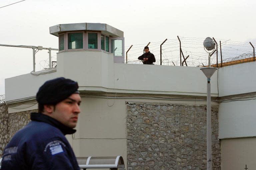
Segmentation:
<svg viewBox="0 0 256 170">
<path fill-rule="evenodd" d="M 207 79 L 207 170 L 212 170 L 211 83 Z"/>
</svg>

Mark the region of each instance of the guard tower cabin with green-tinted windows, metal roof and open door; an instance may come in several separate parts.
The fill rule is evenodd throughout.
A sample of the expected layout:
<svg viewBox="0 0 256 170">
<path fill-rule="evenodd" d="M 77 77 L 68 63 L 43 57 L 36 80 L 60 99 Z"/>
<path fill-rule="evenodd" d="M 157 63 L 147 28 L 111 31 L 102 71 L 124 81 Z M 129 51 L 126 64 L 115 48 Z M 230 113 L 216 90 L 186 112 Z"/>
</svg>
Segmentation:
<svg viewBox="0 0 256 170">
<path fill-rule="evenodd" d="M 114 63 L 124 63 L 124 32 L 101 23 L 59 24 L 50 27 L 59 37 L 59 52 L 102 51 L 114 54 Z"/>
</svg>

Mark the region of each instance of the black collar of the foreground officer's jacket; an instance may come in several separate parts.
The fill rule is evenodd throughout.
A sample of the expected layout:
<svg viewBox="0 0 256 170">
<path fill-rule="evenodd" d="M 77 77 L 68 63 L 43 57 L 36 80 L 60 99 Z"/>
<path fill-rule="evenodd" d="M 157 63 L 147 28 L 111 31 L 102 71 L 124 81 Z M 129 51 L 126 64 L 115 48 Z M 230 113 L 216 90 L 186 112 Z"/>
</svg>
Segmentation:
<svg viewBox="0 0 256 170">
<path fill-rule="evenodd" d="M 42 113 L 36 113 L 36 112 L 33 112 L 30 114 L 30 119 L 32 121 L 38 121 L 38 122 L 45 122 L 47 124 L 50 124 L 58 129 L 60 129 L 60 131 L 66 135 L 66 134 L 73 134 L 76 132 L 75 129 L 73 128 L 69 128 L 65 125 L 63 125 L 62 123 L 60 123 L 59 121 L 47 116 L 47 115 L 44 115 Z"/>
</svg>

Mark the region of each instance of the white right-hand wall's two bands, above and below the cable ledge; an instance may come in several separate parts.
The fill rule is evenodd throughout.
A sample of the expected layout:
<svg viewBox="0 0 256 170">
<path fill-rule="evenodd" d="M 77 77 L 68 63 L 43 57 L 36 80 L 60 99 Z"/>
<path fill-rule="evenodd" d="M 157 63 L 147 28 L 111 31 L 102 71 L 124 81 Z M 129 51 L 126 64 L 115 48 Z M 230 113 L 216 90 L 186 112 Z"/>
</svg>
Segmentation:
<svg viewBox="0 0 256 170">
<path fill-rule="evenodd" d="M 219 96 L 256 92 L 256 62 L 219 68 Z M 219 105 L 219 138 L 256 136 L 256 100 L 223 102 Z"/>
</svg>

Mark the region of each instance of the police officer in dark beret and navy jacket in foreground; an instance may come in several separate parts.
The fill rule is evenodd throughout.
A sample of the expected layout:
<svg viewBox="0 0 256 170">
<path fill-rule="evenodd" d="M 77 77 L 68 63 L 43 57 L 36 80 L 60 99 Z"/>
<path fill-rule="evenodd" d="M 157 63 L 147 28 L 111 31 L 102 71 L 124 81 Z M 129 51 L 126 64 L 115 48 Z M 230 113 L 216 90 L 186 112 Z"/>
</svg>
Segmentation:
<svg viewBox="0 0 256 170">
<path fill-rule="evenodd" d="M 38 113 L 7 144 L 1 170 L 80 170 L 65 135 L 75 133 L 81 98 L 77 82 L 63 77 L 38 90 Z"/>
</svg>

